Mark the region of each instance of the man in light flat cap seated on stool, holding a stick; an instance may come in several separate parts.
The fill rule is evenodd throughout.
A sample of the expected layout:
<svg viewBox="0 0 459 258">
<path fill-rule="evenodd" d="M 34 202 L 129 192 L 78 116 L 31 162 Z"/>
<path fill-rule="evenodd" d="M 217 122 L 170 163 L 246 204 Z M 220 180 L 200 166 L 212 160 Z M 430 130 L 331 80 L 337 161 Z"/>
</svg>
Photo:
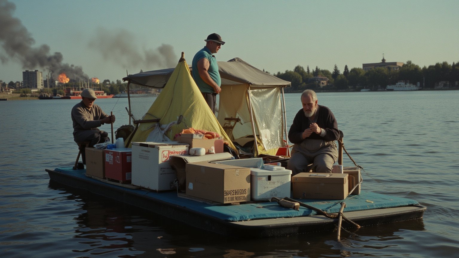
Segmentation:
<svg viewBox="0 0 459 258">
<path fill-rule="evenodd" d="M 108 138 L 108 133 L 98 129 L 104 123 L 115 122 L 114 115 L 107 115 L 101 107 L 94 104 L 97 96 L 93 89 L 84 89 L 81 92 L 81 102 L 72 108 L 73 140 L 77 143 L 89 141 L 90 147 L 103 143 Z M 83 164 L 86 163 L 82 151 Z"/>
</svg>

